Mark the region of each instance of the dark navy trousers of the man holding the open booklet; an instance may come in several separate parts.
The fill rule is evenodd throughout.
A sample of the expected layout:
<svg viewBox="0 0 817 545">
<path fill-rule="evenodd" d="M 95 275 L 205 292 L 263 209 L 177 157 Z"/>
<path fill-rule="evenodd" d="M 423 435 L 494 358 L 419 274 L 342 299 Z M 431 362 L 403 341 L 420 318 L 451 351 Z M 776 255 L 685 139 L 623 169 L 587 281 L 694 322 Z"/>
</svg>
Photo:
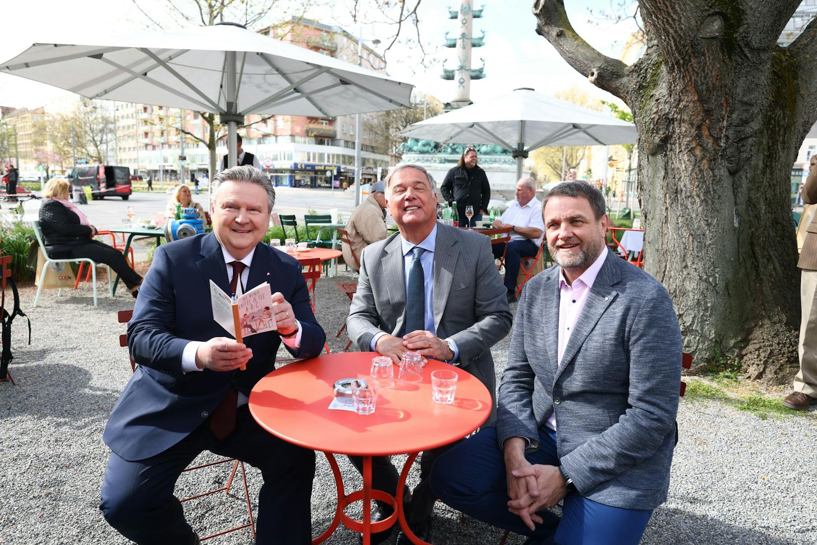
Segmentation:
<svg viewBox="0 0 817 545">
<path fill-rule="evenodd" d="M 247 405 L 239 407 L 235 430 L 221 441 L 205 421 L 154 457 L 128 462 L 110 453 L 100 502 L 105 520 L 140 545 L 193 543 L 193 529 L 185 521 L 173 488 L 181 471 L 204 450 L 238 458 L 261 470 L 264 484 L 258 494 L 258 545 L 311 543 L 315 453 L 263 430 L 250 416 Z"/>
</svg>

